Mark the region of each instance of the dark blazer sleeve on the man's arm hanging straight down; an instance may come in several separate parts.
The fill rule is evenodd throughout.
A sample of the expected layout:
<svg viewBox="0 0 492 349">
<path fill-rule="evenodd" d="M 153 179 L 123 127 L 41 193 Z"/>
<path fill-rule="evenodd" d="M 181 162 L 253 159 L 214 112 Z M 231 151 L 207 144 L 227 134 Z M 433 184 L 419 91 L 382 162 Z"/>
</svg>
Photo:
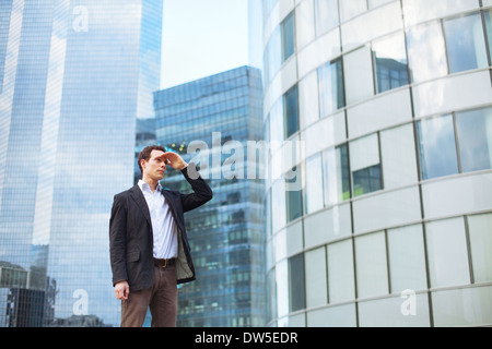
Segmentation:
<svg viewBox="0 0 492 349">
<path fill-rule="evenodd" d="M 128 280 L 126 262 L 127 209 L 124 200 L 115 196 L 109 219 L 109 255 L 113 286 Z"/>
</svg>

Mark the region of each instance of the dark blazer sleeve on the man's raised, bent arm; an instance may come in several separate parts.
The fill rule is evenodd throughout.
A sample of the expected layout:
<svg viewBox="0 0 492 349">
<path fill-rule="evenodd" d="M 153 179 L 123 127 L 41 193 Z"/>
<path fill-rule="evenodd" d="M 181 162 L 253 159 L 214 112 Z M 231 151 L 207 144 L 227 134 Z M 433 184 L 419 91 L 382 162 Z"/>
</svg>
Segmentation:
<svg viewBox="0 0 492 349">
<path fill-rule="evenodd" d="M 204 203 L 209 202 L 213 197 L 212 190 L 209 184 L 201 178 L 200 173 L 194 163 L 190 163 L 185 169 L 181 170 L 188 183 L 190 183 L 192 193 L 180 194 L 183 210 L 188 212 L 200 207 Z"/>
</svg>

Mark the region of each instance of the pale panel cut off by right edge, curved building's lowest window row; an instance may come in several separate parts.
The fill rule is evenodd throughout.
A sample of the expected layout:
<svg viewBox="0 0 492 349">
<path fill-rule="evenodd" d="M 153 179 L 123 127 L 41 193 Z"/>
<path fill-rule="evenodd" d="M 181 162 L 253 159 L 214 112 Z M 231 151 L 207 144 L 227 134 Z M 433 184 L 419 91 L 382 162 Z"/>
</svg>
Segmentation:
<svg viewBox="0 0 492 349">
<path fill-rule="evenodd" d="M 492 214 L 469 216 L 475 282 L 492 281 Z"/>
</svg>

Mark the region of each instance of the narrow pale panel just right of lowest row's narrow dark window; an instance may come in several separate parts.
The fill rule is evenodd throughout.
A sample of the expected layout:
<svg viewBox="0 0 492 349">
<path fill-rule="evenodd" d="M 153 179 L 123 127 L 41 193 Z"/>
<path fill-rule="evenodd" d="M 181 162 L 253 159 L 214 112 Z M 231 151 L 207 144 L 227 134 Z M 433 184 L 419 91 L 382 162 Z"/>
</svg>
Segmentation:
<svg viewBox="0 0 492 349">
<path fill-rule="evenodd" d="M 327 303 L 325 246 L 306 252 L 306 305 Z"/>
</svg>

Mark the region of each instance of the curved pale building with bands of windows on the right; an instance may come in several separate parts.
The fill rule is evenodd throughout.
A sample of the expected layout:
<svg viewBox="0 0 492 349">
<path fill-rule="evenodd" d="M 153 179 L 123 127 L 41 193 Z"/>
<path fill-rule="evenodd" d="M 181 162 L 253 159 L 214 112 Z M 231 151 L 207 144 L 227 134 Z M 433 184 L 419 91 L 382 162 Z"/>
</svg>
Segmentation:
<svg viewBox="0 0 492 349">
<path fill-rule="evenodd" d="M 268 324 L 492 325 L 492 1 L 262 4 Z"/>
</svg>

